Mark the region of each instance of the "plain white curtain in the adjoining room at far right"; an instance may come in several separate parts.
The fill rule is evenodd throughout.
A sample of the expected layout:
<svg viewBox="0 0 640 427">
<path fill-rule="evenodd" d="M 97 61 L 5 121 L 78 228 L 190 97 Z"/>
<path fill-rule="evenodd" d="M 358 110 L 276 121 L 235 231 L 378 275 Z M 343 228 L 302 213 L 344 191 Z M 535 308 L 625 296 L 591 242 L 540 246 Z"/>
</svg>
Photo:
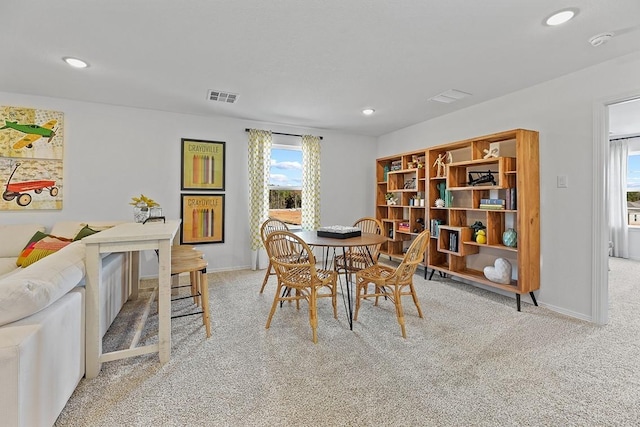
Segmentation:
<svg viewBox="0 0 640 427">
<path fill-rule="evenodd" d="M 629 227 L 627 225 L 627 162 L 629 146 L 626 139 L 609 141 L 609 176 L 607 204 L 609 206 L 609 239 L 611 255 L 629 258 Z"/>
</svg>

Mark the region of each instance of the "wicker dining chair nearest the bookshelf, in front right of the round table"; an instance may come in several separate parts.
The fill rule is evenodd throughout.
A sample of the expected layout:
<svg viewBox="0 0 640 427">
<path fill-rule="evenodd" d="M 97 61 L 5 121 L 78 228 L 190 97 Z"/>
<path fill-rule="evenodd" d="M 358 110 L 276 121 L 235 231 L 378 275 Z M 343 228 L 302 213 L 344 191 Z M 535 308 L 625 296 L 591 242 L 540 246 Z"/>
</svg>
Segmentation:
<svg viewBox="0 0 640 427">
<path fill-rule="evenodd" d="M 425 230 L 411 243 L 411 246 L 409 246 L 409 249 L 404 255 L 404 259 L 397 268 L 375 264 L 356 272 L 356 310 L 353 316 L 354 321 L 358 320 L 358 310 L 360 309 L 362 299 L 376 297 L 374 305 L 378 305 L 378 298 L 385 297 L 395 304 L 396 317 L 402 330 L 402 337 L 407 337 L 401 297 L 411 295 L 418 309 L 418 316 L 422 318 L 422 310 L 420 309 L 418 296 L 413 287 L 413 275 L 418 264 L 424 260 L 424 252 L 427 249 L 428 243 L 429 230 Z M 373 293 L 369 292 L 370 284 L 374 285 Z"/>
</svg>

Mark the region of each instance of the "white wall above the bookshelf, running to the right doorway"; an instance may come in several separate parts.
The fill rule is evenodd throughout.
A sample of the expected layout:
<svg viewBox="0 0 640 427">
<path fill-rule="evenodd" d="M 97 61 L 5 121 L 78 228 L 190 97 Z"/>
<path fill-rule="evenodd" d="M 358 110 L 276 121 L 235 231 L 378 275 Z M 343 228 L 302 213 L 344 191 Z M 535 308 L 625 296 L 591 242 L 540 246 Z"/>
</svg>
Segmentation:
<svg viewBox="0 0 640 427">
<path fill-rule="evenodd" d="M 590 320 L 594 106 L 603 99 L 640 93 L 638 76 L 640 53 L 635 53 L 380 137 L 378 156 L 512 128 L 538 130 L 538 301 Z M 568 188 L 556 187 L 558 175 L 568 176 Z"/>
</svg>

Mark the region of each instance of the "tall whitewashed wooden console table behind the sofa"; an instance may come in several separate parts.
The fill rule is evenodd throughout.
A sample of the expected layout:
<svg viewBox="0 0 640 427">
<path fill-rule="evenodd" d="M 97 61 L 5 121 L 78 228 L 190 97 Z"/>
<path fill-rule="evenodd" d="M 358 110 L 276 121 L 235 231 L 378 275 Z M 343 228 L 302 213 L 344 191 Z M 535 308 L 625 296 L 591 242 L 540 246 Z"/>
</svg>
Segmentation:
<svg viewBox="0 0 640 427">
<path fill-rule="evenodd" d="M 147 224 L 125 223 L 85 237 L 86 246 L 86 378 L 95 378 L 103 362 L 159 353 L 160 363 L 171 357 L 171 244 L 180 221 Z M 130 253 L 131 298 L 138 297 L 140 279 L 139 251 L 157 250 L 158 268 L 158 343 L 125 350 L 102 352 L 100 336 L 100 287 L 103 253 Z"/>
</svg>

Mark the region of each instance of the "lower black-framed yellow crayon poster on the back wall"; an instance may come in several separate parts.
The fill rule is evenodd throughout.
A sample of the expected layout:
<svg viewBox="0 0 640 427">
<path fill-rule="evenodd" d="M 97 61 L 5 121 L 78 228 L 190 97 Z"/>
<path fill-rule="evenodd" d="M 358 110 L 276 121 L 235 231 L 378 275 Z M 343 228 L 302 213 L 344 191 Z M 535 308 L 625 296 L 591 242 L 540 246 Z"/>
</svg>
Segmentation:
<svg viewBox="0 0 640 427">
<path fill-rule="evenodd" d="M 224 194 L 181 194 L 181 244 L 224 243 Z"/>
</svg>

